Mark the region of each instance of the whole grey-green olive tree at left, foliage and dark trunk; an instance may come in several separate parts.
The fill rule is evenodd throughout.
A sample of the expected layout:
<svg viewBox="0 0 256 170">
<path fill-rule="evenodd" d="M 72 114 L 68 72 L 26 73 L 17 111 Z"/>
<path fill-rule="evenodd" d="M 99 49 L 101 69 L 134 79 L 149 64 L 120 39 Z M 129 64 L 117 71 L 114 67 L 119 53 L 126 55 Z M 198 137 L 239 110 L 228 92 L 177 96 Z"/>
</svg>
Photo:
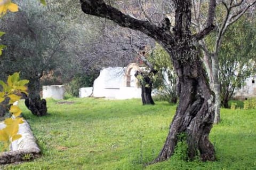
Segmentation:
<svg viewBox="0 0 256 170">
<path fill-rule="evenodd" d="M 9 14 L 0 23 L 6 32 L 3 44 L 6 50 L 0 61 L 1 76 L 21 71 L 21 77 L 29 80 L 26 106 L 37 116 L 47 112 L 46 101 L 40 99 L 40 78 L 44 72 L 68 68 L 73 63 L 65 50 L 68 30 L 58 15 L 52 17 L 38 1 L 17 1 L 18 13 Z"/>
</svg>

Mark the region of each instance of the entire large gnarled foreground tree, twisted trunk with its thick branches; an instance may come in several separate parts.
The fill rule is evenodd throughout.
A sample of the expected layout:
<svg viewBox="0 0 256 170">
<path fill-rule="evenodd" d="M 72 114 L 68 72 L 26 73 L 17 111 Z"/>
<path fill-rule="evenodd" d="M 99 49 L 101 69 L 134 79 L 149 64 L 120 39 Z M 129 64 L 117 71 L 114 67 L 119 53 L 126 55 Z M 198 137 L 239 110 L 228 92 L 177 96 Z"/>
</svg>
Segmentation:
<svg viewBox="0 0 256 170">
<path fill-rule="evenodd" d="M 209 11 L 211 12 L 215 9 L 215 1 L 210 1 Z M 175 26 L 171 33 L 148 21 L 125 15 L 102 0 L 81 0 L 83 12 L 110 19 L 122 27 L 139 30 L 154 38 L 171 56 L 179 77 L 180 101 L 164 147 L 153 162 L 166 160 L 173 155 L 180 133 L 187 135 L 189 159 L 195 158 L 199 151 L 202 160 L 215 160 L 214 148 L 209 141 L 214 120 L 214 95 L 207 83 L 199 52 L 193 43 L 214 28 L 210 23 L 213 19 L 207 20 L 209 27 L 205 30 L 197 35 L 191 35 L 191 1 L 175 0 L 174 3 Z"/>
</svg>

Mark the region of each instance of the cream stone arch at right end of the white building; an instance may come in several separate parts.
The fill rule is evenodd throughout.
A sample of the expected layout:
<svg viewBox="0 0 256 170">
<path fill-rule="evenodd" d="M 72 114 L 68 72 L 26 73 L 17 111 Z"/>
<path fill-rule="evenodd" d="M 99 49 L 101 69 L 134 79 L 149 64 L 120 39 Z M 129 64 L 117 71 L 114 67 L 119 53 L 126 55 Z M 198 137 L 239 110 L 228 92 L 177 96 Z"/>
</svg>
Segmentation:
<svg viewBox="0 0 256 170">
<path fill-rule="evenodd" d="M 140 67 L 136 63 L 130 63 L 126 67 L 125 76 L 124 76 L 124 85 L 125 87 L 137 87 L 137 79 L 134 74 L 136 71 L 140 71 Z"/>
</svg>

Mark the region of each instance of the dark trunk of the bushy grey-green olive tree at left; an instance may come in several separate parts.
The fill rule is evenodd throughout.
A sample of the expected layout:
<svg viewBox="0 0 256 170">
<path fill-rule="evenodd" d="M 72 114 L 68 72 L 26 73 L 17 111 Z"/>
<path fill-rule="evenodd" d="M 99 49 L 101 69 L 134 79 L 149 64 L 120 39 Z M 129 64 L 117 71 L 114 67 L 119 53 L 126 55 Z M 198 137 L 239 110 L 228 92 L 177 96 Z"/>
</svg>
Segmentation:
<svg viewBox="0 0 256 170">
<path fill-rule="evenodd" d="M 46 100 L 40 98 L 40 81 L 38 78 L 30 79 L 28 83 L 28 96 L 25 99 L 27 108 L 36 116 L 47 113 Z"/>
</svg>

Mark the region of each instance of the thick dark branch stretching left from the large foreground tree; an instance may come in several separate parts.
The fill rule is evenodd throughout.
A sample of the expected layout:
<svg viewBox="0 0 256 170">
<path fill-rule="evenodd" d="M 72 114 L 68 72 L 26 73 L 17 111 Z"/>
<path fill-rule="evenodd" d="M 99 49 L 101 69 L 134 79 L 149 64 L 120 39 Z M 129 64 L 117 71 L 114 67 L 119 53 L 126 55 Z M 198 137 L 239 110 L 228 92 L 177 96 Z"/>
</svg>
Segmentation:
<svg viewBox="0 0 256 170">
<path fill-rule="evenodd" d="M 148 21 L 141 21 L 122 13 L 112 6 L 107 5 L 103 0 L 80 0 L 82 11 L 86 14 L 101 18 L 107 18 L 116 22 L 121 27 L 127 27 L 154 38 L 159 43 L 174 45 L 173 37 L 161 27 L 153 25 Z"/>
</svg>

